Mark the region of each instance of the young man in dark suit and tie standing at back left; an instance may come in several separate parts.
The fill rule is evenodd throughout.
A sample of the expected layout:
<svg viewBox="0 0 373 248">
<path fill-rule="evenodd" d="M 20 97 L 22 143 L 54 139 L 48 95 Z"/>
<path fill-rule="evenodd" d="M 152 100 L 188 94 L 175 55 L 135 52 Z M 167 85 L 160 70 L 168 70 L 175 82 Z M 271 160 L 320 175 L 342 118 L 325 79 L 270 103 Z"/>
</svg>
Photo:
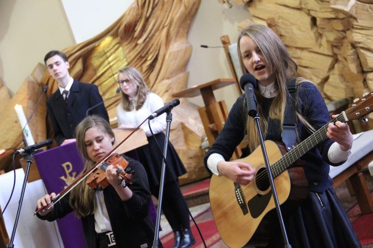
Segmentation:
<svg viewBox="0 0 373 248">
<path fill-rule="evenodd" d="M 102 102 L 102 97 L 96 85 L 81 83 L 70 76 L 70 64 L 64 53 L 50 51 L 45 55 L 44 63 L 58 82 L 58 90 L 47 100 L 47 110 L 54 138 L 60 146 L 75 141 L 75 127 L 86 117 L 88 109 Z M 109 122 L 104 104 L 94 107 L 90 114 L 100 115 Z"/>
</svg>

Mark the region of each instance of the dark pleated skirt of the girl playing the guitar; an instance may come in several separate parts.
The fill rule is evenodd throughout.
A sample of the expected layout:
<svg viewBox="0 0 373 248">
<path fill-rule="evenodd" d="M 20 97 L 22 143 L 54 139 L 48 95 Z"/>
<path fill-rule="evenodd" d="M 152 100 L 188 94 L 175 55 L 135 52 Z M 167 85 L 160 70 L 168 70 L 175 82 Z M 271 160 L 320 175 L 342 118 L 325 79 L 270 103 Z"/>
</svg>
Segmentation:
<svg viewBox="0 0 373 248">
<path fill-rule="evenodd" d="M 299 207 L 283 214 L 283 219 L 293 248 L 361 247 L 345 209 L 331 190 L 309 192 Z M 279 226 L 267 247 L 284 247 Z"/>
</svg>

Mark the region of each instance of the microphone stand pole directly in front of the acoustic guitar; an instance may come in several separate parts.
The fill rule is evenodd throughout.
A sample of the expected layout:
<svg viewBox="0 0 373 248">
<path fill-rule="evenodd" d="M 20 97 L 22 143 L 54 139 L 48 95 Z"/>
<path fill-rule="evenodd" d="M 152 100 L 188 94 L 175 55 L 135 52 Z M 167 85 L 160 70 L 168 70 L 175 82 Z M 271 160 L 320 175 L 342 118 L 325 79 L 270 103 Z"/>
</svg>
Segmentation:
<svg viewBox="0 0 373 248">
<path fill-rule="evenodd" d="M 252 116 L 252 115 L 250 115 L 250 116 Z M 270 184 L 271 184 L 272 195 L 273 195 L 273 198 L 274 198 L 274 201 L 275 201 L 275 205 L 276 205 L 277 216 L 279 217 L 279 222 L 280 222 L 280 228 L 281 228 L 281 233 L 282 233 L 282 237 L 283 237 L 283 242 L 285 244 L 284 247 L 285 248 L 291 248 L 291 245 L 289 244 L 289 241 L 287 239 L 286 230 L 285 230 L 285 224 L 284 224 L 283 219 L 282 219 L 279 198 L 277 196 L 275 182 L 274 182 L 273 174 L 272 174 L 272 171 L 271 171 L 271 166 L 270 166 L 270 163 L 269 163 L 269 160 L 268 160 L 267 150 L 266 150 L 266 147 L 264 145 L 263 134 L 262 134 L 262 130 L 261 130 L 261 127 L 260 127 L 260 124 L 259 124 L 259 119 L 260 118 L 259 118 L 259 116 L 256 113 L 255 113 L 255 116 L 252 116 L 252 117 L 253 117 L 254 122 L 255 122 L 255 124 L 257 126 L 257 131 L 258 131 L 258 136 L 259 136 L 259 142 L 260 142 L 260 145 L 262 147 L 263 158 L 264 158 L 264 162 L 266 164 L 266 168 L 267 168 L 267 171 L 268 171 L 267 172 L 268 173 L 268 179 L 269 179 Z"/>
</svg>

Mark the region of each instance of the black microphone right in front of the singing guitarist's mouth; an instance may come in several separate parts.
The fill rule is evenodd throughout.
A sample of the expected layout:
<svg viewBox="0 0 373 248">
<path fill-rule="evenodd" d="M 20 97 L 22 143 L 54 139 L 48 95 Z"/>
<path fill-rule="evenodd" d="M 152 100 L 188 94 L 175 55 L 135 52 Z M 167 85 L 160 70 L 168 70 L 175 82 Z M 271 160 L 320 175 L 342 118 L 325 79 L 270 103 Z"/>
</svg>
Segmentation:
<svg viewBox="0 0 373 248">
<path fill-rule="evenodd" d="M 240 86 L 245 90 L 246 106 L 248 113 L 251 117 L 257 115 L 257 101 L 254 93 L 254 89 L 257 86 L 257 80 L 249 73 L 242 75 L 240 79 Z"/>
</svg>

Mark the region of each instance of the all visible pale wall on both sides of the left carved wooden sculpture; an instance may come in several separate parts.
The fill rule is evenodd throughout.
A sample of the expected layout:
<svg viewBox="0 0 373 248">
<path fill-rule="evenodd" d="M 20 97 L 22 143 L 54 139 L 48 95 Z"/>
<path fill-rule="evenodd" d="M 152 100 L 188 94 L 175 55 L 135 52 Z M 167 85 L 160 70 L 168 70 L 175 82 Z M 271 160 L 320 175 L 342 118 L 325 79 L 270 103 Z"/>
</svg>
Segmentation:
<svg viewBox="0 0 373 248">
<path fill-rule="evenodd" d="M 0 1 L 0 78 L 16 92 L 38 62 L 52 49 L 83 42 L 114 22 L 133 0 L 14 0 Z M 228 8 L 220 0 L 202 0 L 188 33 L 193 47 L 186 70 L 188 86 L 218 78 L 232 78 L 220 36 L 236 42 L 238 23 L 249 18 L 242 5 Z M 237 98 L 235 86 L 216 90 L 228 108 Z M 201 97 L 190 99 L 202 106 Z"/>
</svg>

